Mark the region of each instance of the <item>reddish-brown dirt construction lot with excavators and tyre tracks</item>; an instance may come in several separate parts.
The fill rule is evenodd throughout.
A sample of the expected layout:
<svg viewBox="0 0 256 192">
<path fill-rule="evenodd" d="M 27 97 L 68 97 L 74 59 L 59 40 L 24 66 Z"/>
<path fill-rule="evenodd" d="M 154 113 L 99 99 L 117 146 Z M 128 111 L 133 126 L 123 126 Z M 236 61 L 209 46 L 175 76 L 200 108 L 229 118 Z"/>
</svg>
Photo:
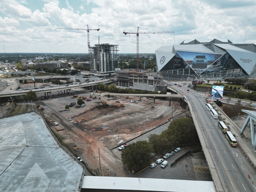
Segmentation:
<svg viewBox="0 0 256 192">
<path fill-rule="evenodd" d="M 90 93 L 78 95 L 89 96 Z M 102 99 L 107 103 L 104 105 L 97 103 Z M 129 99 L 136 101 L 139 97 L 129 97 Z M 62 111 L 62 109 L 70 102 L 77 102 L 77 98 L 71 99 L 70 96 L 66 96 L 38 101 L 38 104 L 44 107 L 42 113 L 52 120 L 49 125 L 63 141 L 70 148 L 74 148 L 75 145 L 79 147 L 78 151 L 73 152 L 79 155 L 93 172 L 103 176 L 114 172 L 118 177 L 127 177 L 121 160 L 110 149 L 168 121 L 172 116 L 172 108 L 173 116 L 185 111 L 180 108 L 179 102 L 172 102 L 172 106 L 169 107 L 167 100 L 158 99 L 153 104 L 153 102 L 149 103 L 153 100 L 142 98 L 142 102 L 136 104 L 128 102 L 129 99 L 125 97 L 108 99 L 106 96 L 101 96 L 101 100 L 85 101 L 84 108 L 71 107 L 70 111 Z M 117 106 L 116 101 L 125 106 Z M 70 121 L 67 117 L 72 117 L 73 120 Z M 87 121 L 81 122 L 82 118 Z M 54 126 L 52 122 L 55 121 L 59 125 Z M 64 130 L 57 131 L 61 129 Z M 111 172 L 107 171 L 107 168 L 110 168 Z"/>
</svg>

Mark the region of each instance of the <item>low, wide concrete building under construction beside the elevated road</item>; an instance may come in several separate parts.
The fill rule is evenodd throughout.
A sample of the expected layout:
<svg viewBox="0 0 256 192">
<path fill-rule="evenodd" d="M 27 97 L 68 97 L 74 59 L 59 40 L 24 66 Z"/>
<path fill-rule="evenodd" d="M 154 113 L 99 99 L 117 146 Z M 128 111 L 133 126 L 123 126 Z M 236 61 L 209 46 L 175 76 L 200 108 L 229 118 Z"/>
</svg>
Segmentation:
<svg viewBox="0 0 256 192">
<path fill-rule="evenodd" d="M 147 91 L 166 90 L 163 77 L 156 73 L 136 71 L 116 71 L 116 87 Z"/>
</svg>

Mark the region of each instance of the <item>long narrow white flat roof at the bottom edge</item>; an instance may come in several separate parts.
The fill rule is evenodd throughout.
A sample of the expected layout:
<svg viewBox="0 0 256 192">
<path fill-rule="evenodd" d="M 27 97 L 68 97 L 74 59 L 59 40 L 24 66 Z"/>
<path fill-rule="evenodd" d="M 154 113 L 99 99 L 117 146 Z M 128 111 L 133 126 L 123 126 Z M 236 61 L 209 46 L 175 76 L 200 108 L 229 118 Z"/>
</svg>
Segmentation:
<svg viewBox="0 0 256 192">
<path fill-rule="evenodd" d="M 84 176 L 81 191 L 215 192 L 216 190 L 212 181 Z"/>
</svg>

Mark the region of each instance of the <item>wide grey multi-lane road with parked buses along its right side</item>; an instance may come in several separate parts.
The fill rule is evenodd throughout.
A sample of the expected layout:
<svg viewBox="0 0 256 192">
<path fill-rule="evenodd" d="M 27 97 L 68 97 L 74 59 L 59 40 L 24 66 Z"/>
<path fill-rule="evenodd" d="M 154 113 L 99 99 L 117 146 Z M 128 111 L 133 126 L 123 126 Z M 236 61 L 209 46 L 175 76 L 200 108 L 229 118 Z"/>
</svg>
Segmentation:
<svg viewBox="0 0 256 192">
<path fill-rule="evenodd" d="M 215 163 L 216 171 L 220 177 L 224 191 L 227 192 L 253 192 L 256 191 L 255 172 L 241 154 L 239 148 L 232 148 L 226 141 L 224 134 L 218 128 L 218 119 L 213 119 L 206 109 L 204 96 L 199 95 L 190 89 L 186 93 L 187 87 L 177 87 L 172 84 L 172 88 L 184 93 L 192 110 L 195 112 L 198 124 L 206 138 L 209 153 Z M 248 177 L 250 175 L 250 178 Z"/>
</svg>

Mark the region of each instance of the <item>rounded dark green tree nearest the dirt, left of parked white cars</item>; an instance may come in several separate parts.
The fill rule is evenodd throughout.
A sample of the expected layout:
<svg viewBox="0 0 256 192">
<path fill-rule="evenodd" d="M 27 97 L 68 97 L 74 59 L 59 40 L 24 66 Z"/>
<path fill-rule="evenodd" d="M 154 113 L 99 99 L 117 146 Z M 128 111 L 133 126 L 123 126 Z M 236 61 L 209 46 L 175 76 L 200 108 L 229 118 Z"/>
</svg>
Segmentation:
<svg viewBox="0 0 256 192">
<path fill-rule="evenodd" d="M 153 147 L 146 141 L 128 145 L 121 153 L 122 163 L 130 170 L 137 171 L 151 162 Z"/>
</svg>

